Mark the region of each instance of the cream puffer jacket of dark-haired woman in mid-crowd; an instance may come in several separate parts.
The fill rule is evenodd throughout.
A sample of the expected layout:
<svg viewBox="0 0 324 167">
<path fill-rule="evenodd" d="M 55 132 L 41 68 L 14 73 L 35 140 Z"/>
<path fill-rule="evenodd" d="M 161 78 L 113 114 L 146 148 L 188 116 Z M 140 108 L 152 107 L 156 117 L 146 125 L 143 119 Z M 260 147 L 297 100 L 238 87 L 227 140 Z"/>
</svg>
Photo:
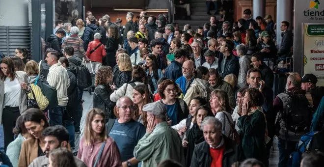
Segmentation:
<svg viewBox="0 0 324 167">
<path fill-rule="evenodd" d="M 210 89 L 208 81 L 195 78 L 193 82 L 190 84 L 189 89 L 184 97 L 184 101 L 189 104 L 190 100 L 195 96 L 200 96 L 209 99 L 210 97 Z"/>
</svg>

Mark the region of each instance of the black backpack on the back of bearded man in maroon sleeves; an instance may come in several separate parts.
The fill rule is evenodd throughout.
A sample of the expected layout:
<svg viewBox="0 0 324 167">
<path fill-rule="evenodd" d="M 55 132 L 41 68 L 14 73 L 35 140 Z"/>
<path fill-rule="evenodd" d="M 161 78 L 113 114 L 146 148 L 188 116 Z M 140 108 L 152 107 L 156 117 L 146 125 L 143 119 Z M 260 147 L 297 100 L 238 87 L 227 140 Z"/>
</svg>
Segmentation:
<svg viewBox="0 0 324 167">
<path fill-rule="evenodd" d="M 284 109 L 284 120 L 287 130 L 295 133 L 308 132 L 312 120 L 312 110 L 304 94 L 288 94 L 286 108 Z"/>
</svg>

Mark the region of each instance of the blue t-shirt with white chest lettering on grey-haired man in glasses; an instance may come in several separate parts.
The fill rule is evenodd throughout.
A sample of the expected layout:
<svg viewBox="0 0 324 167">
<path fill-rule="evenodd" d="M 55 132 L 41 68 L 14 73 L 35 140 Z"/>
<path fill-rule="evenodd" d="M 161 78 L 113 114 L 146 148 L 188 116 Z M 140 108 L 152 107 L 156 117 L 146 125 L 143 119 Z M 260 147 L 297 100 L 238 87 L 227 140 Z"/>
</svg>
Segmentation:
<svg viewBox="0 0 324 167">
<path fill-rule="evenodd" d="M 115 140 L 122 162 L 134 157 L 134 147 L 138 140 L 145 135 L 145 131 L 145 127 L 133 119 L 126 123 L 118 123 L 118 120 L 115 120 L 109 136 Z"/>
</svg>

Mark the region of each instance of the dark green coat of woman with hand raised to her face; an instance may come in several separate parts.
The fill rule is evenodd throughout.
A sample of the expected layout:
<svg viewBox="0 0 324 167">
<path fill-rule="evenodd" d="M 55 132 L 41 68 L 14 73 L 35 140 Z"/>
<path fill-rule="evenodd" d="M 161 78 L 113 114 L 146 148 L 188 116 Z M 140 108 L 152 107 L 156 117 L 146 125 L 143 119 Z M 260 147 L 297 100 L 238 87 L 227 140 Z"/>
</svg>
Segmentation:
<svg viewBox="0 0 324 167">
<path fill-rule="evenodd" d="M 265 150 L 266 119 L 262 111 L 244 115 L 238 119 L 238 132 L 241 137 L 245 158 L 263 159 Z"/>
</svg>

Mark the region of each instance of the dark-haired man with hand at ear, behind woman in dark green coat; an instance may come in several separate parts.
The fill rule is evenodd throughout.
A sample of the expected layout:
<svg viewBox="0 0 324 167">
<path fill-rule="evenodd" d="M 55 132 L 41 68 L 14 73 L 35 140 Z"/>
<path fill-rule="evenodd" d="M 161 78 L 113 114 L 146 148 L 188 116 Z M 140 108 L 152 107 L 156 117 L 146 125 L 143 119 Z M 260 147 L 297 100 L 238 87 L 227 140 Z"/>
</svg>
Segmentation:
<svg viewBox="0 0 324 167">
<path fill-rule="evenodd" d="M 263 112 L 266 115 L 267 127 L 268 127 L 268 137 L 270 140 L 266 143 L 266 153 L 264 157 L 264 163 L 268 166 L 270 148 L 272 146 L 273 136 L 274 136 L 274 120 L 276 117 L 276 110 L 272 109 L 273 104 L 273 91 L 271 88 L 265 86 L 265 81 L 261 80 L 261 71 L 256 68 L 252 68 L 247 71 L 246 82 L 249 88 L 258 89 L 264 96 L 264 103 L 262 105 Z"/>
</svg>

